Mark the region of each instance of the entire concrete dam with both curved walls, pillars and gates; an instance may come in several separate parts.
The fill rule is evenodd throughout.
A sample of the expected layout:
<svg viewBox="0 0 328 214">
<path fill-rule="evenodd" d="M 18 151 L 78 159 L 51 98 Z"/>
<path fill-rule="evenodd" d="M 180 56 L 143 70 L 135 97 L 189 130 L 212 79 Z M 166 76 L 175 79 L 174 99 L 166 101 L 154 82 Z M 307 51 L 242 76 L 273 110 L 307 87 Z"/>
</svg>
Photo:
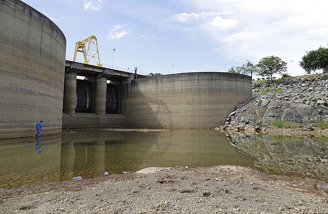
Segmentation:
<svg viewBox="0 0 328 214">
<path fill-rule="evenodd" d="M 207 129 L 251 96 L 251 77 L 198 72 L 145 77 L 65 60 L 66 38 L 45 15 L 0 1 L 0 138 L 64 128 Z M 83 76 L 84 79 L 77 78 Z"/>
</svg>

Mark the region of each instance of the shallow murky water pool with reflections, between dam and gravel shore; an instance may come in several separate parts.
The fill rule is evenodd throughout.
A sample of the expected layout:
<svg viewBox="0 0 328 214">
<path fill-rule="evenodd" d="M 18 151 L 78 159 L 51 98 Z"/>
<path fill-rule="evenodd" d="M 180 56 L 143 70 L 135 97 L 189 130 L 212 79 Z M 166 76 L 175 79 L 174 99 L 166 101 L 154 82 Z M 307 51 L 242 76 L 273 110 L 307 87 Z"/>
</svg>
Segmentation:
<svg viewBox="0 0 328 214">
<path fill-rule="evenodd" d="M 84 130 L 0 140 L 0 187 L 122 174 L 158 167 L 239 165 L 328 181 L 328 138 L 216 131 Z"/>
</svg>

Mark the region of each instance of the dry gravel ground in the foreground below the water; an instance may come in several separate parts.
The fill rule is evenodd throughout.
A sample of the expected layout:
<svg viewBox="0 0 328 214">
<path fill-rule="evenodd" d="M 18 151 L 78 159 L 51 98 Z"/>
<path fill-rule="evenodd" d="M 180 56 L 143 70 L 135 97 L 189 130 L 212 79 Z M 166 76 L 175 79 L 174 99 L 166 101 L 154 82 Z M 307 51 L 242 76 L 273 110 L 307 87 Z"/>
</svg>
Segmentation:
<svg viewBox="0 0 328 214">
<path fill-rule="evenodd" d="M 328 213 L 328 200 L 311 180 L 176 167 L 0 189 L 0 213 Z"/>
</svg>

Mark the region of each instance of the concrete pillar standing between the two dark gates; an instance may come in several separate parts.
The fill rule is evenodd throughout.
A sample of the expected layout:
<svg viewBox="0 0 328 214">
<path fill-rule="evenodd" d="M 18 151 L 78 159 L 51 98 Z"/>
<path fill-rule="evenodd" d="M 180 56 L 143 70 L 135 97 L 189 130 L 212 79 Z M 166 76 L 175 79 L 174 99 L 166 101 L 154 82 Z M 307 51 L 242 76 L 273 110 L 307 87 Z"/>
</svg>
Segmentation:
<svg viewBox="0 0 328 214">
<path fill-rule="evenodd" d="M 96 78 L 94 99 L 94 113 L 106 115 L 107 79 Z"/>
</svg>

